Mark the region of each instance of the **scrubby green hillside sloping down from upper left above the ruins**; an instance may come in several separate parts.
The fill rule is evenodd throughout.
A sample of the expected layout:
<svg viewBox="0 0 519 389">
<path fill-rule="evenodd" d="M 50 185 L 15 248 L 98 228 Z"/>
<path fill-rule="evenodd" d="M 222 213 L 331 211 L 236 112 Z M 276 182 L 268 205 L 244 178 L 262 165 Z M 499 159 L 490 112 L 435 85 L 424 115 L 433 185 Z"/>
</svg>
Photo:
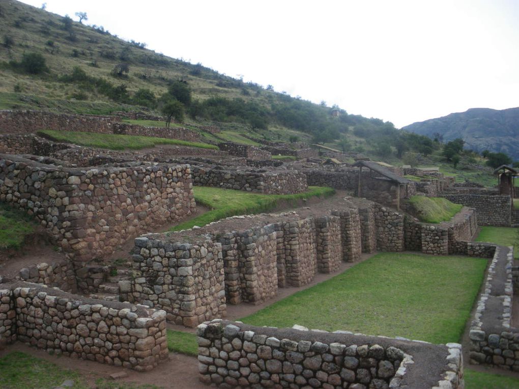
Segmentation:
<svg viewBox="0 0 519 389">
<path fill-rule="evenodd" d="M 23 71 L 24 55 L 32 53 L 43 55 L 46 72 Z M 139 41 L 119 39 L 103 26 L 81 24 L 14 0 L 0 3 L 0 109 L 160 114 L 161 96 L 179 80 L 192 92 L 186 121 L 238 123 L 259 139 L 288 141 L 296 136 L 333 142 L 358 125 L 393 127 L 344 109 L 333 117 L 332 107 L 325 104 L 166 57 Z"/>
</svg>

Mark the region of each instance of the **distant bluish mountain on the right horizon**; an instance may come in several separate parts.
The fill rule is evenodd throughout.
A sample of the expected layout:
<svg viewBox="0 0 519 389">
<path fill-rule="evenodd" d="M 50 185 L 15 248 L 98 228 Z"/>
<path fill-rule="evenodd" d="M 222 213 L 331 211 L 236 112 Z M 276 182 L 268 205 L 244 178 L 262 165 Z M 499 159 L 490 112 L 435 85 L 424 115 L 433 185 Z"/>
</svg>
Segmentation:
<svg viewBox="0 0 519 389">
<path fill-rule="evenodd" d="M 440 133 L 446 142 L 462 138 L 465 148 L 479 152 L 485 149 L 504 152 L 519 160 L 519 108 L 472 108 L 467 112 L 409 124 L 402 130 L 431 138 Z"/>
</svg>

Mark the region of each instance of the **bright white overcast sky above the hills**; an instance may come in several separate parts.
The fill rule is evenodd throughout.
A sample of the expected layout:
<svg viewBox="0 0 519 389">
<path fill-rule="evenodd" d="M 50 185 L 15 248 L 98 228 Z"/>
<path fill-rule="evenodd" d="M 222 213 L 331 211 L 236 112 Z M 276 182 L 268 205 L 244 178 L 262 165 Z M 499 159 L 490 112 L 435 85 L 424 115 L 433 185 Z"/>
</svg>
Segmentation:
<svg viewBox="0 0 519 389">
<path fill-rule="evenodd" d="M 398 128 L 519 106 L 518 0 L 46 3 L 170 57 Z"/>
</svg>

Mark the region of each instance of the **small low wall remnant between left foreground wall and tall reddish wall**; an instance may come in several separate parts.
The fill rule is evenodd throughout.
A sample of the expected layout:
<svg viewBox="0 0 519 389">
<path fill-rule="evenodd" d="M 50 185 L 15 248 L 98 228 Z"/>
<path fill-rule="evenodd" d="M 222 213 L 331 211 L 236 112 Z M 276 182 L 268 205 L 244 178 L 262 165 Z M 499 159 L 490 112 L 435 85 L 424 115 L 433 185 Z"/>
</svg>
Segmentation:
<svg viewBox="0 0 519 389">
<path fill-rule="evenodd" d="M 37 265 L 20 270 L 20 278 L 26 282 L 55 286 L 63 291 L 75 293 L 77 291 L 74 267 L 69 260 L 52 263 L 38 263 Z"/>
</svg>

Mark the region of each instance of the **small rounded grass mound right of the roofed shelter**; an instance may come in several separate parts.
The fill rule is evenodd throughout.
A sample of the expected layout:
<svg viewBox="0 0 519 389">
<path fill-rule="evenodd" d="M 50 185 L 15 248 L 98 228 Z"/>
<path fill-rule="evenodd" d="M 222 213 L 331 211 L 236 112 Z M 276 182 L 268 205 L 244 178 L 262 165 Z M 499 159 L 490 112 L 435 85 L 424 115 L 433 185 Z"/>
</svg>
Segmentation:
<svg viewBox="0 0 519 389">
<path fill-rule="evenodd" d="M 463 207 L 442 197 L 412 196 L 406 202 L 414 207 L 418 218 L 424 223 L 441 223 L 450 220 Z"/>
</svg>

